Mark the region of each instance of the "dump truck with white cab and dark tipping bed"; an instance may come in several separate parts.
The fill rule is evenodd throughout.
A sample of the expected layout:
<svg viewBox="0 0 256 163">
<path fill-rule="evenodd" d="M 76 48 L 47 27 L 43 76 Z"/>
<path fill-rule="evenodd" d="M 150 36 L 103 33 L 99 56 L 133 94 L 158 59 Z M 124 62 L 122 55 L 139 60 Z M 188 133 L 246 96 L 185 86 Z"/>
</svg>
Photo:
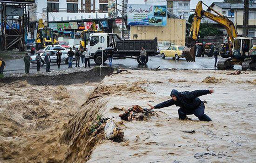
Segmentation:
<svg viewBox="0 0 256 163">
<path fill-rule="evenodd" d="M 101 43 L 102 38 L 104 42 Z M 117 34 L 113 33 L 91 33 L 90 41 L 86 45 L 91 53 L 90 58 L 94 59 L 96 64 L 102 64 L 102 49 L 103 63 L 111 55 L 113 60 L 132 58 L 142 64 L 140 58 L 141 47 L 147 52 L 146 63 L 149 56 L 155 56 L 158 51 L 157 38 L 153 40 L 122 40 Z"/>
</svg>

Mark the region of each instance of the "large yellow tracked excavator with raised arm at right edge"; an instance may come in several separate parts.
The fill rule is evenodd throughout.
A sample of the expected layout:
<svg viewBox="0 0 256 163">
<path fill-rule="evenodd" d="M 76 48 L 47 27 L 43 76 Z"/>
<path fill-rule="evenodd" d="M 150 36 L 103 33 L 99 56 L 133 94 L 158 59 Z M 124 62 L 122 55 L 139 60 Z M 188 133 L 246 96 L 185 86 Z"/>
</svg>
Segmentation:
<svg viewBox="0 0 256 163">
<path fill-rule="evenodd" d="M 210 11 L 213 11 L 215 14 L 204 11 L 202 4 L 204 4 L 202 1 L 199 1 L 196 10 L 194 13 L 194 19 L 193 23 L 190 29 L 190 43 L 187 47 L 184 48 L 183 54 L 186 57 L 186 60 L 189 62 L 195 62 L 196 57 L 196 51 L 194 43 L 198 38 L 199 33 L 199 27 L 201 23 L 201 18 L 203 16 L 213 20 L 214 22 L 217 22 L 219 24 L 222 24 L 223 27 L 225 27 L 230 40 L 229 42 L 229 58 L 225 58 L 218 61 L 218 69 L 230 69 L 235 64 L 240 64 L 242 66 L 242 70 L 246 69 L 255 69 L 256 68 L 256 39 L 253 38 L 244 38 L 244 37 L 237 37 L 237 31 L 235 29 L 234 23 L 229 20 L 227 17 L 223 16 L 219 12 L 212 9 L 212 7 L 208 7 Z"/>
</svg>

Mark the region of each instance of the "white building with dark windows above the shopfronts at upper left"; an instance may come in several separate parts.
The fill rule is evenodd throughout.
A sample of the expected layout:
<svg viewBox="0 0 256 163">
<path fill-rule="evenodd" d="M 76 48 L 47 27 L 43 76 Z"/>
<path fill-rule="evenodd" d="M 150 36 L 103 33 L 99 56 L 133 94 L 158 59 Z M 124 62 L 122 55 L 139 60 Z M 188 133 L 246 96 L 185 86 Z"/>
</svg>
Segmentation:
<svg viewBox="0 0 256 163">
<path fill-rule="evenodd" d="M 30 21 L 40 18 L 49 22 L 69 21 L 79 19 L 95 19 L 108 17 L 108 0 L 35 0 L 33 7 L 29 8 Z"/>
</svg>

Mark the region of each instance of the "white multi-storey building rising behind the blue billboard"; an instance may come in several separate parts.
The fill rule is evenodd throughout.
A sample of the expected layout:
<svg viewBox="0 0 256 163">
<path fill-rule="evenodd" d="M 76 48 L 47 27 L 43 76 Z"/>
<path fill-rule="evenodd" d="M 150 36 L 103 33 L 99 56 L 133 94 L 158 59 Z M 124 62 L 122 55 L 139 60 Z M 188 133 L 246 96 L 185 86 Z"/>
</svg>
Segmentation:
<svg viewBox="0 0 256 163">
<path fill-rule="evenodd" d="M 167 9 L 183 18 L 188 20 L 190 15 L 190 0 L 145 0 L 147 5 L 167 5 Z"/>
</svg>

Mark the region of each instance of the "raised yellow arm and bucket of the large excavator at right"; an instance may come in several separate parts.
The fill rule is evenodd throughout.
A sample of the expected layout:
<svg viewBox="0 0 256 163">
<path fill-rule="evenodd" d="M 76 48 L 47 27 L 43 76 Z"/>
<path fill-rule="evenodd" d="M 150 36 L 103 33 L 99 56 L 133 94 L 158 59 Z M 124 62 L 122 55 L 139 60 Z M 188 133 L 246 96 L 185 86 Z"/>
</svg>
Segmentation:
<svg viewBox="0 0 256 163">
<path fill-rule="evenodd" d="M 222 14 L 220 14 L 217 11 L 215 11 L 214 9 L 212 9 L 211 7 L 208 7 L 208 9 L 212 10 L 217 15 L 210 13 L 208 11 L 204 11 L 202 4 L 203 4 L 202 1 L 199 1 L 197 3 L 196 10 L 194 13 L 194 18 L 193 18 L 193 23 L 190 28 L 190 36 L 189 36 L 190 39 L 192 39 L 194 41 L 197 40 L 201 19 L 203 16 L 205 16 L 205 17 L 213 20 L 214 22 L 221 24 L 226 29 L 226 31 L 231 39 L 231 42 L 233 43 L 234 38 L 237 37 L 237 31 L 235 29 L 234 23 L 231 20 L 229 20 L 228 18 L 226 18 L 225 16 L 223 16 Z M 190 47 L 190 48 L 186 47 L 183 50 L 183 54 L 185 55 L 187 61 L 195 62 L 195 50 L 191 50 L 191 48 L 192 47 Z M 231 45 L 229 45 L 229 49 L 231 49 Z"/>
</svg>

